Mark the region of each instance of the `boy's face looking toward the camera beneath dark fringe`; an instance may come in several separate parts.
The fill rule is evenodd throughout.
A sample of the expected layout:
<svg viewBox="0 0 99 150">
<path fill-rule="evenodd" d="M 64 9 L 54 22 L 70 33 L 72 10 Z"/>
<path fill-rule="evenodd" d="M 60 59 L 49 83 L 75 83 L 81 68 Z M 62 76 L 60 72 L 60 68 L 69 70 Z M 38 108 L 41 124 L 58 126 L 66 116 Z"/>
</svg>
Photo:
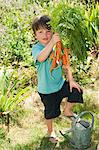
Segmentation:
<svg viewBox="0 0 99 150">
<path fill-rule="evenodd" d="M 36 31 L 35 36 L 42 45 L 47 45 L 52 38 L 52 31 L 46 28 L 40 28 Z"/>
</svg>

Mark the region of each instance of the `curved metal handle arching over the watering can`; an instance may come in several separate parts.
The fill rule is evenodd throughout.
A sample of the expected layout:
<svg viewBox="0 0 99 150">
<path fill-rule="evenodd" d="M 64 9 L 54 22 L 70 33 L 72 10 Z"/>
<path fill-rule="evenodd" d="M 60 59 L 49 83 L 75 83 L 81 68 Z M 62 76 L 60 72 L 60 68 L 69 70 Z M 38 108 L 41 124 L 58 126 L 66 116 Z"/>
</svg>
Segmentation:
<svg viewBox="0 0 99 150">
<path fill-rule="evenodd" d="M 93 128 L 93 125 L 94 125 L 94 116 L 93 116 L 92 112 L 90 112 L 90 111 L 83 111 L 83 112 L 81 112 L 81 113 L 77 116 L 77 118 L 75 119 L 74 125 L 76 125 L 76 123 L 79 122 L 79 121 L 78 121 L 79 118 L 82 117 L 82 116 L 84 116 L 85 114 L 90 114 L 90 115 L 92 116 L 91 127 Z"/>
</svg>

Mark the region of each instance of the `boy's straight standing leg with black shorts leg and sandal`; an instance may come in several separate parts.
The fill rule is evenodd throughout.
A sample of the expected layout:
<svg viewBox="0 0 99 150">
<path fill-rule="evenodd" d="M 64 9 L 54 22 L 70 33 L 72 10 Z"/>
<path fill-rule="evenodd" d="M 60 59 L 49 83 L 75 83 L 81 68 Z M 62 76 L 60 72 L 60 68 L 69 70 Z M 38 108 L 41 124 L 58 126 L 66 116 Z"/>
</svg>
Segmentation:
<svg viewBox="0 0 99 150">
<path fill-rule="evenodd" d="M 58 96 L 57 92 L 52 94 L 41 94 L 41 101 L 44 104 L 44 117 L 46 119 L 46 125 L 49 135 L 49 141 L 56 143 L 58 139 L 56 138 L 55 131 L 53 128 L 53 118 L 60 115 L 60 103 L 62 98 Z"/>
</svg>

